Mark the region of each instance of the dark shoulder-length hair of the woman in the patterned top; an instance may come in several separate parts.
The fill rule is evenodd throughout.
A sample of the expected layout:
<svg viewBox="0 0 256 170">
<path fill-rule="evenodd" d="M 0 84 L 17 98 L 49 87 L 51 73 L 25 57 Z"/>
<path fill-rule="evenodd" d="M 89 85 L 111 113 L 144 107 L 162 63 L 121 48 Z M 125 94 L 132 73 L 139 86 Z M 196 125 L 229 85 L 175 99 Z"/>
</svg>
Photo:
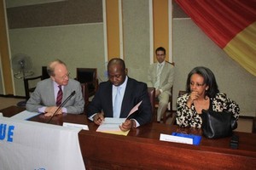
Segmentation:
<svg viewBox="0 0 256 170">
<path fill-rule="evenodd" d="M 194 74 L 199 74 L 201 77 L 204 78 L 204 84 L 206 84 L 209 88 L 206 91 L 206 95 L 210 98 L 213 98 L 218 94 L 218 84 L 216 82 L 216 79 L 214 77 L 214 74 L 210 69 L 204 66 L 198 66 L 195 67 L 192 71 L 189 72 L 188 79 L 187 79 L 187 85 L 186 85 L 186 91 L 187 93 L 190 93 L 190 78 Z"/>
</svg>

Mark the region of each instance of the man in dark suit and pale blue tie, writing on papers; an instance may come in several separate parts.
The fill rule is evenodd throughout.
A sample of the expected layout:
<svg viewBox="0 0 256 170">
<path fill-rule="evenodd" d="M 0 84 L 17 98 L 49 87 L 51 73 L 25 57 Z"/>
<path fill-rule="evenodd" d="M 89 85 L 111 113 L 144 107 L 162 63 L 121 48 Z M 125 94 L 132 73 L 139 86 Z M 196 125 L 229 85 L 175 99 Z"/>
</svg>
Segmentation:
<svg viewBox="0 0 256 170">
<path fill-rule="evenodd" d="M 123 59 L 114 58 L 108 62 L 108 79 L 108 82 L 100 83 L 89 105 L 89 119 L 100 125 L 104 117 L 125 118 L 142 101 L 138 111 L 128 116 L 120 129 L 127 131 L 151 122 L 152 111 L 147 84 L 127 77 Z"/>
</svg>

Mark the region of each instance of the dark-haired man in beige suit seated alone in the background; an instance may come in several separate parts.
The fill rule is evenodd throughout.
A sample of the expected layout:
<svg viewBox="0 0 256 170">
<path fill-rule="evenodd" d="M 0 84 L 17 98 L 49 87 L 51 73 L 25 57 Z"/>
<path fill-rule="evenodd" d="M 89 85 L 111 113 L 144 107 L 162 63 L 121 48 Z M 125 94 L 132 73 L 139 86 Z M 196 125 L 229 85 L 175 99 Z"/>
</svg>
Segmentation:
<svg viewBox="0 0 256 170">
<path fill-rule="evenodd" d="M 158 62 L 149 66 L 148 87 L 154 87 L 156 89 L 155 97 L 160 101 L 157 110 L 157 122 L 160 122 L 166 111 L 169 96 L 171 95 L 174 80 L 174 66 L 165 61 L 165 48 L 156 48 L 155 55 Z"/>
</svg>

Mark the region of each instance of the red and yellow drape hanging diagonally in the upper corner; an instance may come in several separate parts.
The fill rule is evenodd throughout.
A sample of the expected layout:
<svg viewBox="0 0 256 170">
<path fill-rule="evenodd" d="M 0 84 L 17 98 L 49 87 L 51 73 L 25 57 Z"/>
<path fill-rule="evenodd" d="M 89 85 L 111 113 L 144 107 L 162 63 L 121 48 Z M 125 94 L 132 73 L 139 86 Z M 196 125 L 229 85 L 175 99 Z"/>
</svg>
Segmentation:
<svg viewBox="0 0 256 170">
<path fill-rule="evenodd" d="M 256 0 L 175 0 L 232 59 L 256 76 Z"/>
</svg>

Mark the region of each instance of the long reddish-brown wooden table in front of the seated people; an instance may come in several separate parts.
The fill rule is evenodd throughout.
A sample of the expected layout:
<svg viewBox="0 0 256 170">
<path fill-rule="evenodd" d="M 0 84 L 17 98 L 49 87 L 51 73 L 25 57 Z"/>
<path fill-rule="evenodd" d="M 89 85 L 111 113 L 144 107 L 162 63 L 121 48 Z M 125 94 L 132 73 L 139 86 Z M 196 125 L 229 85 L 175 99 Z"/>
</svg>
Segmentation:
<svg viewBox="0 0 256 170">
<path fill-rule="evenodd" d="M 23 109 L 24 110 L 24 109 Z M 16 106 L 2 110 L 4 116 L 23 111 Z M 16 112 L 17 113 L 17 112 Z M 44 115 L 31 121 L 47 122 Z M 55 116 L 52 124 L 63 122 L 87 124 L 90 131 L 79 133 L 79 143 L 86 169 L 255 169 L 256 134 L 235 132 L 239 136 L 237 150 L 230 149 L 230 137 L 201 139 L 200 145 L 160 141 L 160 133 L 183 132 L 201 134 L 195 128 L 181 128 L 150 123 L 131 130 L 128 136 L 96 133 L 97 126 L 84 115 Z"/>
</svg>

